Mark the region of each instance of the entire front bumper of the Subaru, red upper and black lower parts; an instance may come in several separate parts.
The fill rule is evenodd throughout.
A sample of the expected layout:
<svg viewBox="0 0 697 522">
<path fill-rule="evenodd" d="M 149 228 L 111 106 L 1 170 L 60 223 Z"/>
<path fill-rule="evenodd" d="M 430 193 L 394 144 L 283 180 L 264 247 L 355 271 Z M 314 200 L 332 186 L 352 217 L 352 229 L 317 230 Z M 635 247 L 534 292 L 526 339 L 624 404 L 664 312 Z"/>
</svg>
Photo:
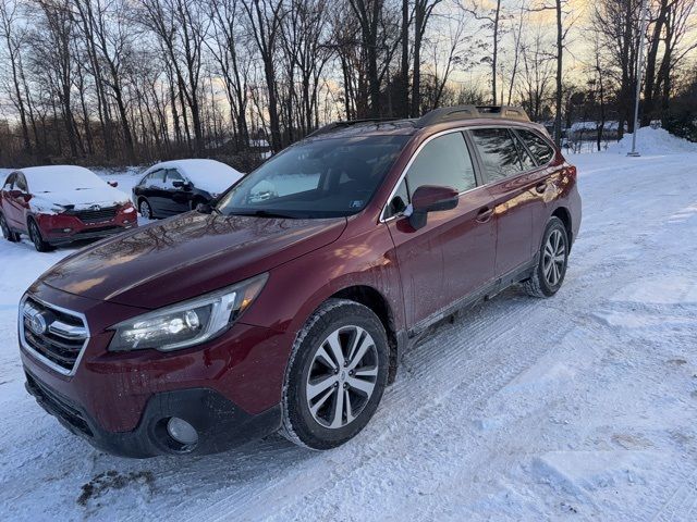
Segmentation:
<svg viewBox="0 0 697 522">
<path fill-rule="evenodd" d="M 95 301 L 37 284 L 30 295 L 83 314 L 90 337 L 74 372 L 60 374 L 21 347 L 27 389 L 71 432 L 106 451 L 150 457 L 176 453 L 162 420 L 196 427 L 195 453 L 220 451 L 280 426 L 285 364 L 293 336 L 243 323 L 199 347 L 110 352 L 110 325 L 139 309 Z"/>
</svg>

